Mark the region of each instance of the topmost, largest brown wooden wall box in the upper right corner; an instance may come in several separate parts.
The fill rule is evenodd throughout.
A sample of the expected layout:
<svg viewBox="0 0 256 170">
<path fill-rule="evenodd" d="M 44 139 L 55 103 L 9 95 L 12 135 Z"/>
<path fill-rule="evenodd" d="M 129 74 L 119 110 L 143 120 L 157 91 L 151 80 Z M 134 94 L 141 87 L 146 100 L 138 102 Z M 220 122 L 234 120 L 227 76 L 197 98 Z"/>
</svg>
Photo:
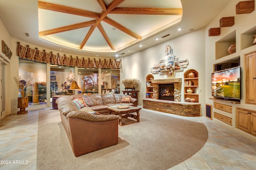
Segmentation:
<svg viewBox="0 0 256 170">
<path fill-rule="evenodd" d="M 241 1 L 236 4 L 236 14 L 249 14 L 254 9 L 254 0 Z"/>
</svg>

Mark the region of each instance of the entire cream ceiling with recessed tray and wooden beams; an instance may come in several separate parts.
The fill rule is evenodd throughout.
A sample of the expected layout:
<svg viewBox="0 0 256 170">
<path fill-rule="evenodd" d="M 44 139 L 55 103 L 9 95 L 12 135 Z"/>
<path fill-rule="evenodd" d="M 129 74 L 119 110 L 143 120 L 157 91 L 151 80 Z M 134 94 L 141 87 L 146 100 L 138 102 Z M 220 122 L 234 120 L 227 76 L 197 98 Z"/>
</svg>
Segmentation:
<svg viewBox="0 0 256 170">
<path fill-rule="evenodd" d="M 28 43 L 122 57 L 203 28 L 228 1 L 8 0 L 0 17 L 12 37 Z"/>
</svg>

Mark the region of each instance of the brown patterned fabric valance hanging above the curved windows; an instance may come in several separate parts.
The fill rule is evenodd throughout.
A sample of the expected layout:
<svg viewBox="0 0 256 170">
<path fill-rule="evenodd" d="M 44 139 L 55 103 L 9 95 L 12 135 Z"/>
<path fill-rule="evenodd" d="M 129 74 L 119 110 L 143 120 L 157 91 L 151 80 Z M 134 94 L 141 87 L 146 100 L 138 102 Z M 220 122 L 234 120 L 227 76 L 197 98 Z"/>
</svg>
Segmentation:
<svg viewBox="0 0 256 170">
<path fill-rule="evenodd" d="M 32 61 L 38 61 L 42 63 L 50 63 L 50 64 L 56 64 L 60 66 L 77 66 L 77 67 L 83 67 L 83 68 L 120 68 L 121 67 L 121 59 L 116 60 L 114 59 L 107 61 L 104 59 L 102 60 L 88 60 L 78 58 L 73 58 L 72 56 L 67 57 L 66 54 L 64 56 L 60 56 L 59 53 L 57 55 L 52 54 L 52 52 L 47 53 L 45 50 L 39 51 L 38 48 L 31 49 L 29 48 L 29 45 L 26 47 L 21 46 L 20 42 L 17 42 L 17 55 L 22 59 L 32 60 Z"/>
</svg>

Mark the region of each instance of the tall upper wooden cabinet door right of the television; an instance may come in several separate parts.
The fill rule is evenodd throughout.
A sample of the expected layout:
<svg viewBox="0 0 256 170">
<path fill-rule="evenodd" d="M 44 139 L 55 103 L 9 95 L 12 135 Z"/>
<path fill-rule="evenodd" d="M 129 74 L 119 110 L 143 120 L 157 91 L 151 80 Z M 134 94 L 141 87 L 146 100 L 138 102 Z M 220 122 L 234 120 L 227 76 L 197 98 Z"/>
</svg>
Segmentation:
<svg viewBox="0 0 256 170">
<path fill-rule="evenodd" d="M 256 104 L 256 52 L 246 55 L 246 103 Z"/>
</svg>

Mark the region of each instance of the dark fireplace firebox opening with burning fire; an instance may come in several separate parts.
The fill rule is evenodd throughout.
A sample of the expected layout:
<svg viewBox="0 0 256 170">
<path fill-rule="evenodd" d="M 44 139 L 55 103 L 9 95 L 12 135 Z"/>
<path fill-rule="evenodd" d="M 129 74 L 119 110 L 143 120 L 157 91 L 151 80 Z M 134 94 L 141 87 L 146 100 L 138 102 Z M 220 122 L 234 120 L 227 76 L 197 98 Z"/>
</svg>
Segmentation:
<svg viewBox="0 0 256 170">
<path fill-rule="evenodd" d="M 159 84 L 159 99 L 174 101 L 174 84 Z"/>
</svg>

